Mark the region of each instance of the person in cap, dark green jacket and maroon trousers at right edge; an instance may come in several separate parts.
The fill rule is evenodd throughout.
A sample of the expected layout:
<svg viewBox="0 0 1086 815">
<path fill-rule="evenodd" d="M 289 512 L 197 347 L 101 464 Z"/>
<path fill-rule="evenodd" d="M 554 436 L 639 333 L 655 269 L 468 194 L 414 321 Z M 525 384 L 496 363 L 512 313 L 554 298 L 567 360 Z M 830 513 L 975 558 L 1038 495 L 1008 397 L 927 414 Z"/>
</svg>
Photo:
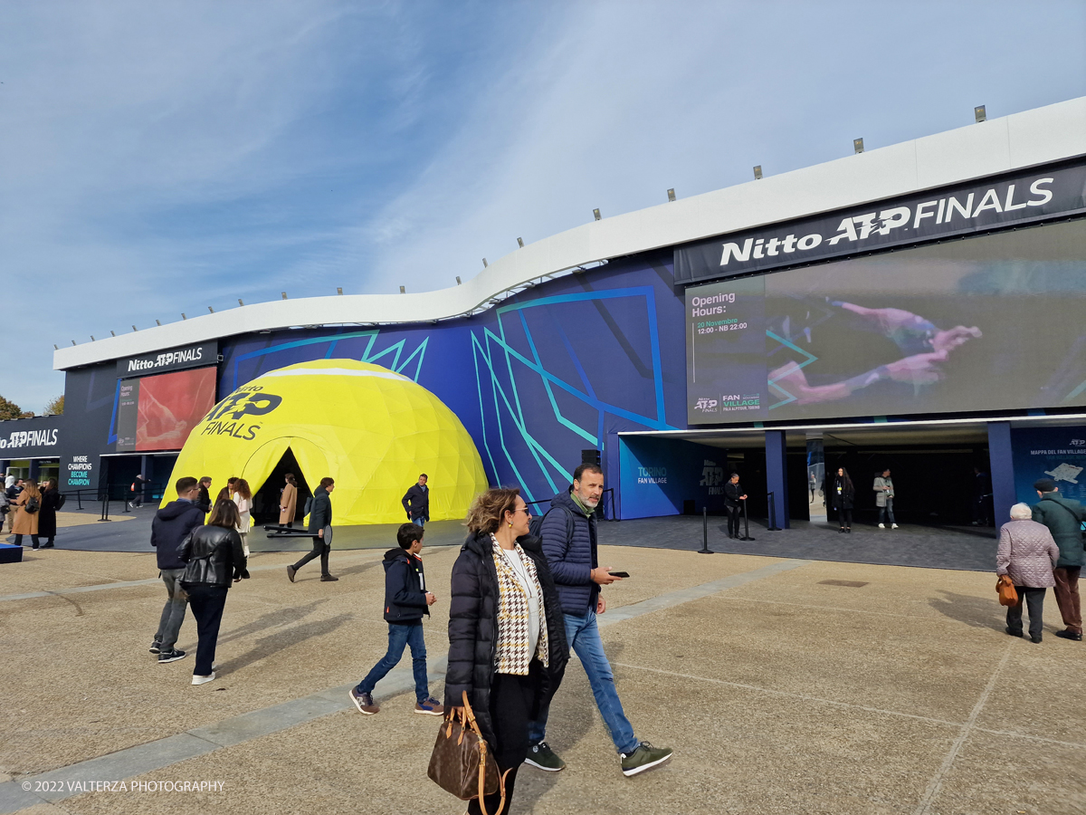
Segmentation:
<svg viewBox="0 0 1086 815">
<path fill-rule="evenodd" d="M 1083 612 L 1078 599 L 1078 574 L 1084 560 L 1082 524 L 1086 521 L 1086 509 L 1077 501 L 1061 496 L 1056 481 L 1050 478 L 1041 478 L 1033 488 L 1040 499 L 1034 504 L 1033 519 L 1048 527 L 1056 546 L 1060 548 L 1060 559 L 1052 569 L 1052 579 L 1056 580 L 1056 604 L 1060 606 L 1065 628 L 1057 631 L 1056 636 L 1082 642 Z"/>
</svg>

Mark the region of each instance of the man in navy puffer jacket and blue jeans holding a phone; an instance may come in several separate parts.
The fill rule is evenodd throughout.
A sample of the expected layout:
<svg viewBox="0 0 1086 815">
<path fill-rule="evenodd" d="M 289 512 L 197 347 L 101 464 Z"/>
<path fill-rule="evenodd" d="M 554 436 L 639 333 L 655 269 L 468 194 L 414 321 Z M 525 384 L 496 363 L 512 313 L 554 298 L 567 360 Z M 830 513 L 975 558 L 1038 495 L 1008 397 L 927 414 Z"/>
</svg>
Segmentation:
<svg viewBox="0 0 1086 815">
<path fill-rule="evenodd" d="M 599 467 L 581 464 L 573 472 L 573 486 L 551 501 L 540 537 L 561 600 L 566 640 L 589 675 L 596 706 L 621 758 L 622 774 L 633 776 L 664 764 L 671 757 L 671 750 L 654 748 L 633 735 L 599 639 L 596 615 L 607 610 L 599 589 L 620 579 L 613 577 L 607 566 L 599 566 L 596 557 L 595 511 L 603 492 L 604 476 Z M 539 720 L 529 726 L 526 762 L 553 773 L 566 765 L 543 740 L 546 718 L 547 711 L 542 710 Z"/>
</svg>

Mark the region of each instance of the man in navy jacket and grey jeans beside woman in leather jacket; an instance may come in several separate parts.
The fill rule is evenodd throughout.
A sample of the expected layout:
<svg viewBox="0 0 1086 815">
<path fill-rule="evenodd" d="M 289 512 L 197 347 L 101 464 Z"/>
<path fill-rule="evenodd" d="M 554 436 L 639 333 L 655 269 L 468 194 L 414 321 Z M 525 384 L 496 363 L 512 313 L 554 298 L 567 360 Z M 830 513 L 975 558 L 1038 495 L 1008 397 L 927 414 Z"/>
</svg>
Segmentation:
<svg viewBox="0 0 1086 815">
<path fill-rule="evenodd" d="M 151 522 L 151 546 L 155 549 L 159 574 L 166 585 L 166 604 L 159 619 L 159 631 L 151 643 L 151 653 L 159 654 L 159 663 L 184 659 L 185 652 L 174 645 L 185 622 L 188 594 L 181 588 L 186 563 L 181 560 L 181 543 L 189 532 L 203 526 L 203 511 L 197 506 L 200 485 L 195 478 L 177 479 L 177 500 L 171 501 L 155 513 Z"/>
</svg>

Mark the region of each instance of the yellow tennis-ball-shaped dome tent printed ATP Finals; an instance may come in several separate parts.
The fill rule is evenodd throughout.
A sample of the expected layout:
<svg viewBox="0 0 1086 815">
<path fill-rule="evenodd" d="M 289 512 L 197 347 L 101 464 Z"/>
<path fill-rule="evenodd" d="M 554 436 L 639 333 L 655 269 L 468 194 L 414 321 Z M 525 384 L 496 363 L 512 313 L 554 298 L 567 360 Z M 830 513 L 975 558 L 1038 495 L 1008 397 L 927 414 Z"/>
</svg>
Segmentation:
<svg viewBox="0 0 1086 815">
<path fill-rule="evenodd" d="M 163 504 L 182 476 L 211 476 L 212 497 L 239 476 L 255 494 L 288 449 L 311 489 L 336 479 L 333 525 L 403 523 L 400 500 L 420 473 L 431 521 L 465 517 L 487 489 L 475 442 L 430 391 L 380 365 L 317 360 L 270 371 L 216 404 L 185 442 Z"/>
</svg>

